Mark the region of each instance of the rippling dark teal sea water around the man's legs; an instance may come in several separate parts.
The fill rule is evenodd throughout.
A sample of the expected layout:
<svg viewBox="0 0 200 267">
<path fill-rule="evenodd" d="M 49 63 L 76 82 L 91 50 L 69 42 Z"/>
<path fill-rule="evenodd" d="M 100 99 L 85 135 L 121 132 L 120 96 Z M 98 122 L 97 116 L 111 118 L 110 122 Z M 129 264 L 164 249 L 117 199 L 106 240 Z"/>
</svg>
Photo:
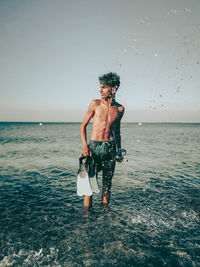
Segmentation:
<svg viewBox="0 0 200 267">
<path fill-rule="evenodd" d="M 79 128 L 0 123 L 0 266 L 200 266 L 200 124 L 122 124 L 128 162 L 89 212 Z"/>
</svg>

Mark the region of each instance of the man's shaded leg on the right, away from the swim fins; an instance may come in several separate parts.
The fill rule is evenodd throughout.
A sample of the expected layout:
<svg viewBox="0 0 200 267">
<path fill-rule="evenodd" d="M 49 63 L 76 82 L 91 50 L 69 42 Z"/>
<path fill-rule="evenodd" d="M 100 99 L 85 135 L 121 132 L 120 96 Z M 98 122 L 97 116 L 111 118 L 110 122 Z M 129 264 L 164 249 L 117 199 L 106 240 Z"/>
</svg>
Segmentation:
<svg viewBox="0 0 200 267">
<path fill-rule="evenodd" d="M 110 201 L 110 194 L 111 194 L 111 185 L 112 185 L 112 178 L 114 175 L 115 170 L 115 162 L 112 164 L 106 164 L 103 167 L 103 191 L 102 191 L 102 202 L 103 206 L 106 207 Z"/>
</svg>

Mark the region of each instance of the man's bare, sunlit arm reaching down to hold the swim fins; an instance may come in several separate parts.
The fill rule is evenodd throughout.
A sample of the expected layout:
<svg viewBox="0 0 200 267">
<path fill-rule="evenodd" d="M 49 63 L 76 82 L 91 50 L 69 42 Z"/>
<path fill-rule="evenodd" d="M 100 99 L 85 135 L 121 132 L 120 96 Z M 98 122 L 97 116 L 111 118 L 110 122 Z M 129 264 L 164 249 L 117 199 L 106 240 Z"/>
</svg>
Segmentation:
<svg viewBox="0 0 200 267">
<path fill-rule="evenodd" d="M 83 120 L 83 122 L 81 124 L 81 127 L 80 127 L 81 139 L 82 139 L 82 143 L 83 143 L 82 154 L 85 157 L 89 155 L 89 149 L 88 149 L 88 146 L 87 146 L 86 126 L 90 122 L 91 118 L 94 116 L 95 107 L 96 107 L 96 101 L 93 100 L 89 105 L 88 111 L 87 111 L 87 113 L 85 115 L 85 118 L 84 118 L 84 120 Z"/>
</svg>

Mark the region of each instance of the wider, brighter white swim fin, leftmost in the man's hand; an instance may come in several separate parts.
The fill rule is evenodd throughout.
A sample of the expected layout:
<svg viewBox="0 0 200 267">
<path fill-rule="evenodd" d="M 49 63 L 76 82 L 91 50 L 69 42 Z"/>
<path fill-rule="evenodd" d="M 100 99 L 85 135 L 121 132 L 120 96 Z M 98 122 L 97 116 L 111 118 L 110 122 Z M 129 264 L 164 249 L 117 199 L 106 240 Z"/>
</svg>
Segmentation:
<svg viewBox="0 0 200 267">
<path fill-rule="evenodd" d="M 78 196 L 91 196 L 92 189 L 90 187 L 88 173 L 86 171 L 84 158 L 79 159 L 79 170 L 77 175 L 77 195 Z"/>
</svg>

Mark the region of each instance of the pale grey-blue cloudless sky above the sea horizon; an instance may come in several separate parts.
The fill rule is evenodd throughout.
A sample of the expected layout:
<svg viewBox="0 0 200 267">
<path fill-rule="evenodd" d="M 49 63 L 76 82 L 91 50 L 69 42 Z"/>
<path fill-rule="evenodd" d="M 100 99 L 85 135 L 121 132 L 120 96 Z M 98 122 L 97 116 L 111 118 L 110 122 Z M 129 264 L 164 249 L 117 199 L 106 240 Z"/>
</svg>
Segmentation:
<svg viewBox="0 0 200 267">
<path fill-rule="evenodd" d="M 0 0 L 0 121 L 82 121 L 121 76 L 124 122 L 200 122 L 199 0 Z"/>
</svg>

